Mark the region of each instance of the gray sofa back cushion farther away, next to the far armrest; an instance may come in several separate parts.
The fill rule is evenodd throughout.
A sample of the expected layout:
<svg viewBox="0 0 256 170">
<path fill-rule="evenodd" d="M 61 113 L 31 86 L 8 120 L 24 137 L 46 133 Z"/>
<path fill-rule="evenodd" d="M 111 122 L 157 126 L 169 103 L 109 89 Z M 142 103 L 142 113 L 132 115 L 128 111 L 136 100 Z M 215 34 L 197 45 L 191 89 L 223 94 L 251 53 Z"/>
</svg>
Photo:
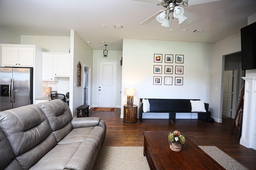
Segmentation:
<svg viewBox="0 0 256 170">
<path fill-rule="evenodd" d="M 52 134 L 57 142 L 61 141 L 70 131 L 73 119 L 70 108 L 60 99 L 51 100 L 37 104 L 46 115 L 50 124 Z"/>
</svg>

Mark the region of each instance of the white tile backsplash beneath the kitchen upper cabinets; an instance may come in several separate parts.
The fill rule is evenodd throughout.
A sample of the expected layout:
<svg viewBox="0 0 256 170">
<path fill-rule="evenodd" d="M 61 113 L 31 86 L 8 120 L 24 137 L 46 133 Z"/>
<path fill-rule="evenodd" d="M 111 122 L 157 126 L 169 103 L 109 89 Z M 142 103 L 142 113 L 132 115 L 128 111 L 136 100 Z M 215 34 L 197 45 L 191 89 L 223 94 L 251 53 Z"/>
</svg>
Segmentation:
<svg viewBox="0 0 256 170">
<path fill-rule="evenodd" d="M 61 94 L 66 94 L 69 92 L 69 78 L 59 77 L 58 82 L 48 82 L 48 86 L 52 88 L 52 91 L 57 91 Z"/>
</svg>

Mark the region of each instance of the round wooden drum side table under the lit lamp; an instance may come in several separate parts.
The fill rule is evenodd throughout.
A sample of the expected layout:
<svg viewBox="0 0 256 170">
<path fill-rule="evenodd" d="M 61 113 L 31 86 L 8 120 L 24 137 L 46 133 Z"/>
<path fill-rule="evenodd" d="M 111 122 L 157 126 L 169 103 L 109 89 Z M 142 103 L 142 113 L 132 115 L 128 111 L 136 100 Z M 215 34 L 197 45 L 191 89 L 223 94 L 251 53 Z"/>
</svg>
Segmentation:
<svg viewBox="0 0 256 170">
<path fill-rule="evenodd" d="M 136 123 L 137 122 L 137 110 L 138 106 L 128 106 L 124 105 L 124 122 L 125 123 Z"/>
</svg>

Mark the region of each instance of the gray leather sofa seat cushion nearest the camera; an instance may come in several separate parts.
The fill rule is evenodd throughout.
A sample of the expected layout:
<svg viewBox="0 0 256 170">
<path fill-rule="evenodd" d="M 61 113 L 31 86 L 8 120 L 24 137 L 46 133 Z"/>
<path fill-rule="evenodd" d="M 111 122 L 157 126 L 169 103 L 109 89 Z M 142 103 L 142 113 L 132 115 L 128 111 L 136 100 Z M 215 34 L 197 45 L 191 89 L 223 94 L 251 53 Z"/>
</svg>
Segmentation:
<svg viewBox="0 0 256 170">
<path fill-rule="evenodd" d="M 97 154 L 90 141 L 56 145 L 30 170 L 92 170 Z"/>
</svg>

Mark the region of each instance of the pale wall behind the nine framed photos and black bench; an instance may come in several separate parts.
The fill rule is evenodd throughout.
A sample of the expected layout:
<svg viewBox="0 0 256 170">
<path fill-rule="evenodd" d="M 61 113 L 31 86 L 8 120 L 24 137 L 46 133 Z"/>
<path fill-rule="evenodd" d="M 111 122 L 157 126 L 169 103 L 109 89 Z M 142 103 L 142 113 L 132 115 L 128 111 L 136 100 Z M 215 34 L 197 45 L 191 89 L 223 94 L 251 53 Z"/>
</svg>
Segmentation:
<svg viewBox="0 0 256 170">
<path fill-rule="evenodd" d="M 184 63 L 154 63 L 154 53 L 184 55 Z M 200 99 L 210 102 L 212 45 L 209 43 L 186 43 L 173 41 L 152 41 L 138 39 L 123 40 L 122 92 L 125 87 L 135 87 L 134 104 L 140 98 Z M 154 65 L 184 66 L 184 74 L 153 74 Z M 162 85 L 153 85 L 153 76 L 162 76 Z M 173 77 L 173 85 L 164 85 L 164 76 Z M 183 86 L 175 86 L 175 77 L 183 77 Z M 122 106 L 126 96 L 122 94 Z M 210 110 L 212 106 L 210 104 Z M 147 117 L 147 113 L 143 114 Z M 150 116 L 160 118 L 159 114 Z M 160 116 L 160 115 L 159 115 Z M 165 115 L 168 118 L 168 115 Z M 121 115 L 123 117 L 123 107 Z M 179 115 L 177 115 L 177 118 Z M 148 117 L 149 118 L 149 117 Z M 163 117 L 164 118 L 164 117 Z M 186 118 L 190 118 L 190 113 Z"/>
</svg>

